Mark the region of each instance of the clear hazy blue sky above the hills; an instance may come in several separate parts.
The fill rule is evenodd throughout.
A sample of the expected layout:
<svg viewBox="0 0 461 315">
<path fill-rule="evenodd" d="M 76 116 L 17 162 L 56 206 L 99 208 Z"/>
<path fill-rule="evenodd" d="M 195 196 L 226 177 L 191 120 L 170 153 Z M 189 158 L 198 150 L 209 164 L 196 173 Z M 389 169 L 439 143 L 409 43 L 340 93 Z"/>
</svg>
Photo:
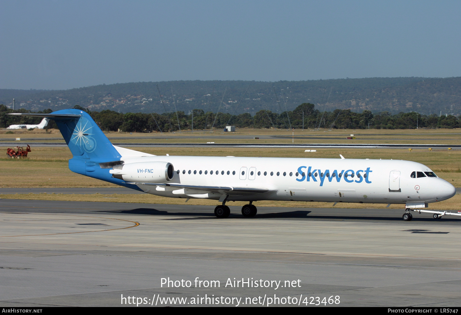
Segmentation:
<svg viewBox="0 0 461 315">
<path fill-rule="evenodd" d="M 461 76 L 461 1 L 0 0 L 0 88 Z"/>
</svg>

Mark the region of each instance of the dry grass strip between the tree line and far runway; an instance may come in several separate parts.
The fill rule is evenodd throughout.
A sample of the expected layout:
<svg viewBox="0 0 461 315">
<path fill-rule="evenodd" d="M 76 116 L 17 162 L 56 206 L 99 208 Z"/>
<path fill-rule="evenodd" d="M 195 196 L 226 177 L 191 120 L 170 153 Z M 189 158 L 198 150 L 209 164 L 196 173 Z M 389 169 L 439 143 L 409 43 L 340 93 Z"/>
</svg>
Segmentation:
<svg viewBox="0 0 461 315">
<path fill-rule="evenodd" d="M 58 130 L 50 129 L 49 133 L 45 130 L 35 129 L 28 130 L 12 130 L 14 134 L 6 134 L 7 129 L 0 130 L 0 145 L 1 142 L 12 141 L 16 138 L 21 138 L 21 141 L 28 141 L 29 144 L 34 142 L 62 142 L 64 140 L 47 140 L 50 138 L 60 138 Z M 356 139 L 346 139 L 354 134 Z M 286 129 L 253 129 L 242 128 L 236 132 L 223 132 L 221 129 L 215 129 L 213 132 L 209 130 L 199 130 L 191 133 L 190 131 L 163 133 L 118 133 L 107 132 L 106 136 L 111 138 L 123 138 L 112 140 L 112 142 L 127 142 L 127 143 L 375 143 L 375 144 L 444 144 L 455 145 L 461 144 L 461 129 L 295 129 L 294 140 L 292 139 L 292 131 Z M 241 139 L 242 136 L 245 139 Z M 274 137 L 275 136 L 275 137 Z M 152 138 L 155 138 L 154 140 Z M 253 139 L 260 137 L 260 139 Z M 37 140 L 28 140 L 28 139 Z"/>
</svg>

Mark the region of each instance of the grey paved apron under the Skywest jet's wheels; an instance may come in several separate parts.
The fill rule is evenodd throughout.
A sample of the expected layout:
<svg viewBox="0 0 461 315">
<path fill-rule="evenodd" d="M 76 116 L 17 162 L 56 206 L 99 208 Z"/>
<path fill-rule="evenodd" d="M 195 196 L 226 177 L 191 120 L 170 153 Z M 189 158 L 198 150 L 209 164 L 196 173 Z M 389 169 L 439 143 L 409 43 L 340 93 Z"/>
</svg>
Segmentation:
<svg viewBox="0 0 461 315">
<path fill-rule="evenodd" d="M 139 306 L 192 306 L 205 295 L 260 306 L 274 294 L 281 306 L 288 296 L 299 306 L 461 303 L 459 219 L 275 207 L 244 218 L 229 205 L 231 216 L 217 219 L 212 206 L 1 199 L 0 305 L 121 306 L 122 294 L 145 297 Z M 179 286 L 162 287 L 168 277 Z M 197 277 L 220 286 L 195 287 Z M 264 286 L 225 286 L 234 278 Z"/>
</svg>

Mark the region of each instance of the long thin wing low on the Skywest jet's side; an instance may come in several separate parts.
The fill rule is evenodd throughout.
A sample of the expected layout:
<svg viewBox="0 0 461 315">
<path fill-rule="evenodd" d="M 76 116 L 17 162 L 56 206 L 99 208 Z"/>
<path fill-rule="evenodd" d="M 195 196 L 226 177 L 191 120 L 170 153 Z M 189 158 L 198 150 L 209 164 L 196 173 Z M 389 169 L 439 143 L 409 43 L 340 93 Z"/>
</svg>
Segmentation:
<svg viewBox="0 0 461 315">
<path fill-rule="evenodd" d="M 265 192 L 276 192 L 275 190 L 271 190 L 266 187 L 233 187 L 233 186 L 199 186 L 199 185 L 184 185 L 180 183 L 171 183 L 171 184 L 160 184 L 160 183 L 138 183 L 138 182 L 131 182 L 128 184 L 133 185 L 151 185 L 151 186 L 158 186 L 158 187 L 171 187 L 177 189 L 184 189 L 184 194 L 188 194 L 187 191 L 196 191 L 196 192 L 189 192 L 189 194 L 197 194 L 197 193 L 207 193 L 207 192 L 215 192 L 220 194 L 226 195 L 254 195 L 259 193 Z"/>
</svg>

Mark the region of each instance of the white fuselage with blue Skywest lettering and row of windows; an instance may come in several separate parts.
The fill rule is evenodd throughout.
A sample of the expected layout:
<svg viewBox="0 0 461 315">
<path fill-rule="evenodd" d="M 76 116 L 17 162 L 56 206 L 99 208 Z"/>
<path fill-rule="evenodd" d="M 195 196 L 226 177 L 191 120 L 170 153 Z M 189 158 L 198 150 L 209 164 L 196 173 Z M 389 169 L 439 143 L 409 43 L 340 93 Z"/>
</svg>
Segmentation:
<svg viewBox="0 0 461 315">
<path fill-rule="evenodd" d="M 386 204 L 431 203 L 451 198 L 456 190 L 438 177 L 411 178 L 431 172 L 423 164 L 402 160 L 151 156 L 122 158 L 125 163 L 168 162 L 174 176 L 165 183 L 196 186 L 267 188 L 270 191 L 228 201 L 294 200 Z M 142 168 L 141 168 L 142 169 Z M 304 174 L 303 174 L 304 173 Z M 347 174 L 347 176 L 346 176 Z M 134 182 L 148 182 L 142 170 Z M 143 191 L 173 198 L 219 199 L 219 193 L 138 185 Z"/>
</svg>

